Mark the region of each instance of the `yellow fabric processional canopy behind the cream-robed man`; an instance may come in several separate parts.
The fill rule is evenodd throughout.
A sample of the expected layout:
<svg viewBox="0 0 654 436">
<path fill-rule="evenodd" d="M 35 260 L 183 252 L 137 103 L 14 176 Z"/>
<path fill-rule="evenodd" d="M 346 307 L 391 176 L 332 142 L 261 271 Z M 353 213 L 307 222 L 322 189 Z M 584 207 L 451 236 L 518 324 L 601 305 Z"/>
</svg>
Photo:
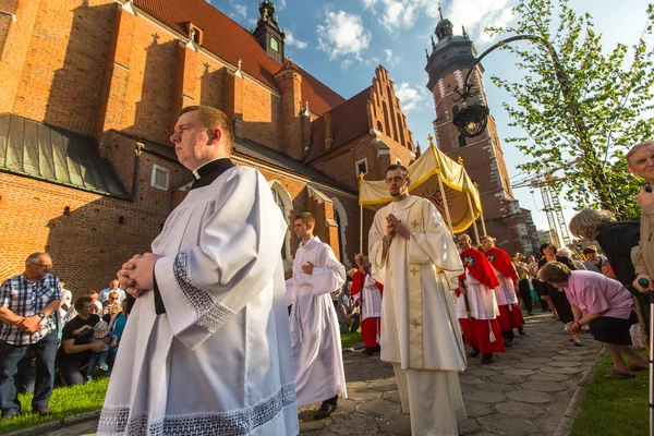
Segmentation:
<svg viewBox="0 0 654 436">
<path fill-rule="evenodd" d="M 435 146 L 431 145 L 421 157 L 409 167 L 411 185 L 409 193 L 428 198 L 447 220 L 438 178 L 443 181 L 451 227 L 455 233 L 472 226 L 482 213 L 482 202 L 476 186 L 470 180 L 462 165 L 455 162 Z M 473 210 L 470 210 L 468 194 Z M 378 210 L 391 202 L 386 182 L 360 179 L 359 204 L 367 209 Z"/>
</svg>

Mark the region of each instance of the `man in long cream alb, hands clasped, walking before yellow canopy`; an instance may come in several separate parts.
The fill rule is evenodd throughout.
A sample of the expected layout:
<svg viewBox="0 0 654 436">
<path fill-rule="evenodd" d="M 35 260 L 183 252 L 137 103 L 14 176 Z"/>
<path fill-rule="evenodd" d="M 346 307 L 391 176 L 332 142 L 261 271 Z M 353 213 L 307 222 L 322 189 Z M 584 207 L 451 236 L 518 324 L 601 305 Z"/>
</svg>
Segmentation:
<svg viewBox="0 0 654 436">
<path fill-rule="evenodd" d="M 384 283 L 382 360 L 392 363 L 412 435 L 458 435 L 465 354 L 452 290 L 463 266 L 434 204 L 409 195 L 407 168 L 388 167 L 386 183 L 392 202 L 377 211 L 368 235 Z"/>
</svg>

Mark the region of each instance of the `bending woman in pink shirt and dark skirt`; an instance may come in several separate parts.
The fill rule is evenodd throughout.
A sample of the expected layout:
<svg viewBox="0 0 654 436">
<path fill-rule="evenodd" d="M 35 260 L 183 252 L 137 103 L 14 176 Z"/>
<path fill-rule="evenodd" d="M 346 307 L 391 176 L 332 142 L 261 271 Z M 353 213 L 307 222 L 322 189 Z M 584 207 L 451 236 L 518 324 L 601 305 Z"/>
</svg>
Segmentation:
<svg viewBox="0 0 654 436">
<path fill-rule="evenodd" d="M 629 348 L 629 328 L 638 318 L 631 294 L 619 281 L 592 271 L 571 271 L 559 262 L 543 266 L 538 278 L 566 291 L 574 315 L 574 320 L 568 324 L 570 331 L 579 332 L 589 324 L 593 338 L 602 342 L 610 355 L 614 368 L 604 378 L 631 378 L 633 372 L 647 370 L 647 362 Z M 622 354 L 631 361 L 629 365 Z"/>
</svg>

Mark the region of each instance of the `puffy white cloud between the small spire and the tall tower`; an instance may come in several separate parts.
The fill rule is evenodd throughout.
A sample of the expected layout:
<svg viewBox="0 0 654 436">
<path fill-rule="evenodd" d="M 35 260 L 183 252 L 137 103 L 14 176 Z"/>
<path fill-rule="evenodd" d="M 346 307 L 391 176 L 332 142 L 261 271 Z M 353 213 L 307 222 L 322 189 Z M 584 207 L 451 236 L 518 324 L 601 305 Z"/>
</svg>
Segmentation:
<svg viewBox="0 0 654 436">
<path fill-rule="evenodd" d="M 331 60 L 351 57 L 361 61 L 361 55 L 371 44 L 371 33 L 363 26 L 361 17 L 346 11 L 326 11 L 325 23 L 318 25 L 317 31 L 318 48 Z"/>
</svg>

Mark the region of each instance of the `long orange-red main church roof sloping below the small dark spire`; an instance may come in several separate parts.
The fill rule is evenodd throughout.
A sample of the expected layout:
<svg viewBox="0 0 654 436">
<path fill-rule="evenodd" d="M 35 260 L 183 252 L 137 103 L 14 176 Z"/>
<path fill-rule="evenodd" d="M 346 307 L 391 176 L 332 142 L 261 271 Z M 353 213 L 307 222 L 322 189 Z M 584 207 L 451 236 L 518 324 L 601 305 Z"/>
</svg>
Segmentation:
<svg viewBox="0 0 654 436">
<path fill-rule="evenodd" d="M 193 23 L 203 31 L 203 47 L 206 50 L 232 65 L 237 65 L 241 58 L 241 69 L 246 74 L 281 92 L 274 74 L 282 64 L 270 58 L 247 29 L 206 0 L 134 0 L 134 5 L 182 35 L 187 34 L 186 23 Z M 308 99 L 312 112 L 320 116 L 346 101 L 306 71 L 298 69 L 303 75 L 302 95 Z"/>
</svg>

